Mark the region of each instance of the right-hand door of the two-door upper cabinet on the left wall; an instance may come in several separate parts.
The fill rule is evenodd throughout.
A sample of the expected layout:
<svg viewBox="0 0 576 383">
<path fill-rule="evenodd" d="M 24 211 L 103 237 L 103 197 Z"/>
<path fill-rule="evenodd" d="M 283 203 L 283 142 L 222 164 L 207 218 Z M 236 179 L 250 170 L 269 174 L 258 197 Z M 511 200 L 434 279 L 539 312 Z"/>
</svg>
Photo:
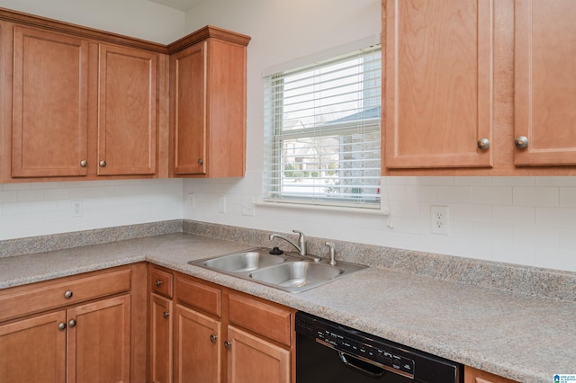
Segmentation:
<svg viewBox="0 0 576 383">
<path fill-rule="evenodd" d="M 100 46 L 98 175 L 155 174 L 158 57 Z"/>
</svg>

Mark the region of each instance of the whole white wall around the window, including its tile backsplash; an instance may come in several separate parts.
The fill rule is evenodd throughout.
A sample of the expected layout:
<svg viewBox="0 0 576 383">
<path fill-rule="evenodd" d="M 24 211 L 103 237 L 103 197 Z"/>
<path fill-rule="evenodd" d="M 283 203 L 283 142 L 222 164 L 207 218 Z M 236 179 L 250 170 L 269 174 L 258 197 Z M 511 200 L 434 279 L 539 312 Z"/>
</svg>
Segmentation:
<svg viewBox="0 0 576 383">
<path fill-rule="evenodd" d="M 261 198 L 262 72 L 377 34 L 380 17 L 380 0 L 210 0 L 186 13 L 186 31 L 212 24 L 252 40 L 247 176 L 184 181 L 184 218 L 576 271 L 574 177 L 386 177 L 390 217 L 261 205 L 254 216 L 242 215 L 243 201 Z M 220 196 L 226 213 L 219 212 Z M 430 205 L 448 206 L 447 236 L 430 233 Z"/>
</svg>

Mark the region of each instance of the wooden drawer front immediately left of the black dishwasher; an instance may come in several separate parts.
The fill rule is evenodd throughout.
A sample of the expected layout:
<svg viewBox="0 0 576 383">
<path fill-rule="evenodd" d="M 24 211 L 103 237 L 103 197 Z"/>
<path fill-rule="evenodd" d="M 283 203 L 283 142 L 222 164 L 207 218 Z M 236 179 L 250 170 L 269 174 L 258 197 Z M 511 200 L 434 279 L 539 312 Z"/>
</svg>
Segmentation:
<svg viewBox="0 0 576 383">
<path fill-rule="evenodd" d="M 255 299 L 229 295 L 229 321 L 247 330 L 290 346 L 293 313 Z"/>
</svg>

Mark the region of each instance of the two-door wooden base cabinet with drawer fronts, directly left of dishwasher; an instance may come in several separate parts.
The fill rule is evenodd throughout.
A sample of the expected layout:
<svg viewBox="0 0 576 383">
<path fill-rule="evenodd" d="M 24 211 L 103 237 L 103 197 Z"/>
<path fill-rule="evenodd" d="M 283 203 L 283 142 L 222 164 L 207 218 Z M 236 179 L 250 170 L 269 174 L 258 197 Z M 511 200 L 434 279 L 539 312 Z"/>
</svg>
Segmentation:
<svg viewBox="0 0 576 383">
<path fill-rule="evenodd" d="M 175 381 L 293 381 L 294 313 L 176 273 Z"/>
</svg>

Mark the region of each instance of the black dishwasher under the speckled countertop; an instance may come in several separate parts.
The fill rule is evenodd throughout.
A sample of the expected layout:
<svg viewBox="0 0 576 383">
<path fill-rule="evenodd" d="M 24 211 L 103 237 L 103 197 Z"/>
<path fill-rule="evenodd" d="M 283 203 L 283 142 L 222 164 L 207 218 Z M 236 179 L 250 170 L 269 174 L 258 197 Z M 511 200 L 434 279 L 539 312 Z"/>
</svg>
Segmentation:
<svg viewBox="0 0 576 383">
<path fill-rule="evenodd" d="M 464 366 L 296 313 L 296 383 L 462 383 Z"/>
</svg>

